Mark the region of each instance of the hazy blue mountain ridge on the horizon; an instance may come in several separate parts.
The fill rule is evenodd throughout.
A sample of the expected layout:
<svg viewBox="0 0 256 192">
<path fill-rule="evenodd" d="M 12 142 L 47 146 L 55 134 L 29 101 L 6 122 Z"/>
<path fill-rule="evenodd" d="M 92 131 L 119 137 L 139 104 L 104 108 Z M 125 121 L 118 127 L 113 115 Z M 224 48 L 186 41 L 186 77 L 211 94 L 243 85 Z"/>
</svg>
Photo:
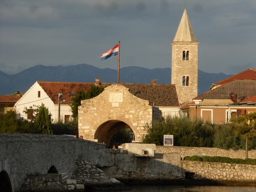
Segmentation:
<svg viewBox="0 0 256 192">
<path fill-rule="evenodd" d="M 151 83 L 156 79 L 157 84 L 171 83 L 171 68 L 147 69 L 142 67 L 124 67 L 119 71 L 120 83 Z M 206 73 L 198 70 L 198 95 L 209 91 L 209 87 L 219 80 L 230 77 L 224 73 Z M 117 70 L 99 69 L 92 65 L 78 64 L 71 66 L 37 65 L 25 69 L 15 75 L 0 71 L 0 95 L 10 95 L 16 91 L 26 92 L 36 81 L 60 82 L 117 82 Z"/>
</svg>

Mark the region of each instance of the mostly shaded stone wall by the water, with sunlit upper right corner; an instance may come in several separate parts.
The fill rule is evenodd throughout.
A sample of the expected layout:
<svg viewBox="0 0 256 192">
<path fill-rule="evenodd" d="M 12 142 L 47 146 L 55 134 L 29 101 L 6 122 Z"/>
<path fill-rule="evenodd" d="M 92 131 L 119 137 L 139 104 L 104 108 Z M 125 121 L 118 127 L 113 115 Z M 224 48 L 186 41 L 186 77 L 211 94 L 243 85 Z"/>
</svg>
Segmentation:
<svg viewBox="0 0 256 192">
<path fill-rule="evenodd" d="M 118 150 L 113 150 L 118 152 Z M 129 154 L 115 155 L 115 164 L 111 167 L 101 167 L 107 175 L 112 175 L 121 181 L 133 180 L 159 180 L 181 179 L 181 160 L 178 153 L 155 154 L 154 157 L 135 157 Z"/>
</svg>

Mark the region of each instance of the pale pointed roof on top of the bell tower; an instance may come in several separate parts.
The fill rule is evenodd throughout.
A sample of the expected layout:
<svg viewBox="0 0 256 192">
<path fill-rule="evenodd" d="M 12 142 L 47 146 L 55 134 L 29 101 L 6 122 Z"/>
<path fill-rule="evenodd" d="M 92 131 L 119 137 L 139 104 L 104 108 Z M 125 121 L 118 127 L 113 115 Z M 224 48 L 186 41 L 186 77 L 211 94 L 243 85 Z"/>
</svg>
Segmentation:
<svg viewBox="0 0 256 192">
<path fill-rule="evenodd" d="M 179 24 L 178 30 L 173 41 L 180 41 L 180 42 L 196 42 L 196 37 L 192 26 L 190 24 L 189 18 L 187 16 L 186 9 L 181 18 L 181 22 Z"/>
</svg>

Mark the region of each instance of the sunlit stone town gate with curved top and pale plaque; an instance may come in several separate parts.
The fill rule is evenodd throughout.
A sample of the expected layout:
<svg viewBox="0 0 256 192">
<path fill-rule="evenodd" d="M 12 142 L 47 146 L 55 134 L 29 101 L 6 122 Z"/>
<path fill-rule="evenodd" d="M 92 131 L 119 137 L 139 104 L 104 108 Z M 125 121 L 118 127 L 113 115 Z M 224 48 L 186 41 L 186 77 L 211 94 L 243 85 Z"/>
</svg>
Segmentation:
<svg viewBox="0 0 256 192">
<path fill-rule="evenodd" d="M 112 84 L 98 96 L 81 101 L 78 107 L 78 132 L 84 139 L 110 143 L 115 132 L 131 128 L 135 141 L 145 134 L 144 125 L 152 124 L 152 106 L 132 95 L 128 88 Z"/>
</svg>

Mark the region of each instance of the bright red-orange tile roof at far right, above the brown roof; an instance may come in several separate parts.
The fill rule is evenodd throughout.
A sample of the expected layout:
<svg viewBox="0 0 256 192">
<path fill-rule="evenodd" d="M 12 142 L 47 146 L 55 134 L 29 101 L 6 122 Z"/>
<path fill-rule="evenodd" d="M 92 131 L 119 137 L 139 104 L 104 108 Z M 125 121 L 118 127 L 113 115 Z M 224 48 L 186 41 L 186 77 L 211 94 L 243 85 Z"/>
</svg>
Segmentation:
<svg viewBox="0 0 256 192">
<path fill-rule="evenodd" d="M 231 81 L 234 81 L 234 80 L 256 80 L 256 70 L 255 69 L 247 69 L 247 70 L 242 71 L 236 75 L 233 75 L 231 77 L 228 77 L 226 79 L 218 81 L 214 84 L 223 85 L 225 83 L 230 83 Z"/>
</svg>

